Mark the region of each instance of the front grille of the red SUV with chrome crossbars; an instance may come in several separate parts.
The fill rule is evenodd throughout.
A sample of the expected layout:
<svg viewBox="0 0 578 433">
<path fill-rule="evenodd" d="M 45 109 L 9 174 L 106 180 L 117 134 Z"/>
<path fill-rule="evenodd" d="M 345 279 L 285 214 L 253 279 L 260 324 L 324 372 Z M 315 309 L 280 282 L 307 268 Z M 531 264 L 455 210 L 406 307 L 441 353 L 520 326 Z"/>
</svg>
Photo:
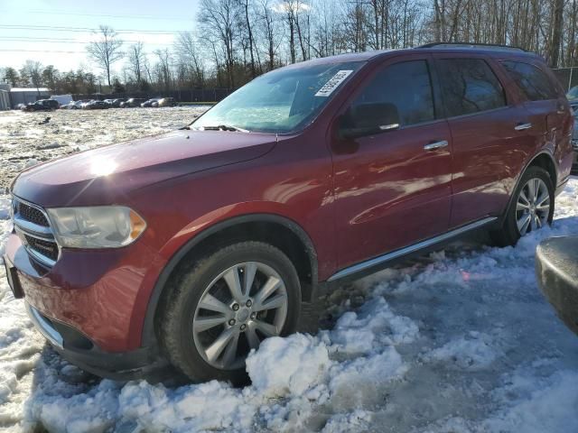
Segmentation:
<svg viewBox="0 0 578 433">
<path fill-rule="evenodd" d="M 13 196 L 14 229 L 26 252 L 45 266 L 52 267 L 61 249 L 54 238 L 50 222 L 42 207 Z"/>
</svg>

